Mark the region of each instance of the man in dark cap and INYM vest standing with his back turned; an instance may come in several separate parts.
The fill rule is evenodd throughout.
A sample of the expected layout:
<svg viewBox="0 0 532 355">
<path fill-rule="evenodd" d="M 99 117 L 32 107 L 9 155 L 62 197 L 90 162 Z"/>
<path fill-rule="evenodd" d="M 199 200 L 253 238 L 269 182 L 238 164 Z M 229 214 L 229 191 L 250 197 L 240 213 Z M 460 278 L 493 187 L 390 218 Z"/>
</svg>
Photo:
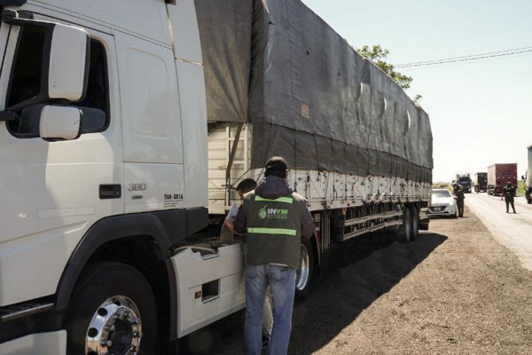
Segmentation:
<svg viewBox="0 0 532 355">
<path fill-rule="evenodd" d="M 262 304 L 270 286 L 273 327 L 268 353 L 286 354 L 292 329 L 295 270 L 301 237 L 314 233 L 307 201 L 287 183 L 285 159 L 272 157 L 264 178 L 244 201 L 234 222 L 236 233 L 246 233 L 246 353 L 262 351 Z"/>
</svg>

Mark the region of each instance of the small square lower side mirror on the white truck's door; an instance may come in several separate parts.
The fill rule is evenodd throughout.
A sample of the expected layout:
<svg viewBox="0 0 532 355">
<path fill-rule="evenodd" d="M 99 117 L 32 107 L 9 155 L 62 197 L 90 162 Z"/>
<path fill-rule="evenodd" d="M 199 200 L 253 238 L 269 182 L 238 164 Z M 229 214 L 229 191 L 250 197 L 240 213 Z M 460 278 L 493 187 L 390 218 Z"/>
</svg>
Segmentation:
<svg viewBox="0 0 532 355">
<path fill-rule="evenodd" d="M 39 134 L 45 139 L 75 139 L 82 134 L 82 111 L 70 106 L 43 106 Z"/>
</svg>

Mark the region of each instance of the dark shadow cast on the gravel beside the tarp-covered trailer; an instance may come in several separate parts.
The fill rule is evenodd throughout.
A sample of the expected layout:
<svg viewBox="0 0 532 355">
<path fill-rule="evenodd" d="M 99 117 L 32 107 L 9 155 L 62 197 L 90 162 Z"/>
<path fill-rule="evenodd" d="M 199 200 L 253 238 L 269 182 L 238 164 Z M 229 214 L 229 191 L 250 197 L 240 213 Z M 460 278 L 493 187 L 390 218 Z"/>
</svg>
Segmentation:
<svg viewBox="0 0 532 355">
<path fill-rule="evenodd" d="M 349 243 L 336 259 L 340 268 L 322 275 L 315 292 L 296 305 L 289 353 L 321 349 L 446 240 L 441 234 L 420 233 L 416 241 L 402 244 L 387 233 Z"/>
</svg>

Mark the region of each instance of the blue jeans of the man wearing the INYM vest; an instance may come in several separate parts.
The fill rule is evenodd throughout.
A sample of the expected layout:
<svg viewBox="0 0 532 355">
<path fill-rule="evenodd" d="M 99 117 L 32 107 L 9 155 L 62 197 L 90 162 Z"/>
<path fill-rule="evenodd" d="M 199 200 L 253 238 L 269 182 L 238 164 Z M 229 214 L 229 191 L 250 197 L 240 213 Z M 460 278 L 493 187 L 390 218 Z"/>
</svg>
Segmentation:
<svg viewBox="0 0 532 355">
<path fill-rule="evenodd" d="M 271 264 L 246 267 L 246 354 L 260 355 L 262 351 L 262 306 L 266 288 L 270 286 L 273 327 L 268 355 L 288 352 L 292 331 L 295 270 Z"/>
</svg>

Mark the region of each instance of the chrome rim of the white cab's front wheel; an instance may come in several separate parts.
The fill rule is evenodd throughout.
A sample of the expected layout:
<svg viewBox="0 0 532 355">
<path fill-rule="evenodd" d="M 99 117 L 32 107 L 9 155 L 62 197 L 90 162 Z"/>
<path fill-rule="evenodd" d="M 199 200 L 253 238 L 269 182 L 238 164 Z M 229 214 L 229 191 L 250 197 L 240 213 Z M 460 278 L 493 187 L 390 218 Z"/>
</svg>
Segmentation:
<svg viewBox="0 0 532 355">
<path fill-rule="evenodd" d="M 137 305 L 126 296 L 113 296 L 99 305 L 85 337 L 86 355 L 136 355 L 142 338 Z"/>
</svg>

